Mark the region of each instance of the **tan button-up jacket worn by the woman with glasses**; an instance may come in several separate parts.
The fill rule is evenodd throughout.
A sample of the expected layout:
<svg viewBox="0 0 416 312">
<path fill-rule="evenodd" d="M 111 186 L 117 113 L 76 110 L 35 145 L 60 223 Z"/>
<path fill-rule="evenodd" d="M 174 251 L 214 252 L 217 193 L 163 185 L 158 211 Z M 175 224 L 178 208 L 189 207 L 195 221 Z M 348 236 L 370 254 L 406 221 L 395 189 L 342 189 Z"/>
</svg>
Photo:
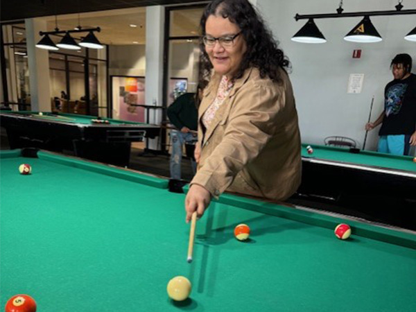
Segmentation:
<svg viewBox="0 0 416 312">
<path fill-rule="evenodd" d="M 201 117 L 216 98 L 220 75 L 214 74 L 198 112 L 201 157 L 191 184 L 218 197 L 225 190 L 285 200 L 300 184 L 300 132 L 291 81 L 261 78 L 252 68 L 234 83 L 229 96 L 204 131 Z"/>
</svg>

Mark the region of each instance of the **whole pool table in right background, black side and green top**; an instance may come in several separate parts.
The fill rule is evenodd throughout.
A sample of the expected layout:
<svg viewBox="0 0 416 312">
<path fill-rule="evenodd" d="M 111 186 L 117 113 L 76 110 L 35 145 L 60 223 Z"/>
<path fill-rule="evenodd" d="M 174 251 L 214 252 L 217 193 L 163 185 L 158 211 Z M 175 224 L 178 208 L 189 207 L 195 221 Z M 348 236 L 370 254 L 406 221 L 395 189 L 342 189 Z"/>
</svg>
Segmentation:
<svg viewBox="0 0 416 312">
<path fill-rule="evenodd" d="M 413 157 L 302 144 L 298 194 L 356 210 L 359 216 L 416 230 Z M 352 153 L 352 151 L 354 153 Z"/>
</svg>

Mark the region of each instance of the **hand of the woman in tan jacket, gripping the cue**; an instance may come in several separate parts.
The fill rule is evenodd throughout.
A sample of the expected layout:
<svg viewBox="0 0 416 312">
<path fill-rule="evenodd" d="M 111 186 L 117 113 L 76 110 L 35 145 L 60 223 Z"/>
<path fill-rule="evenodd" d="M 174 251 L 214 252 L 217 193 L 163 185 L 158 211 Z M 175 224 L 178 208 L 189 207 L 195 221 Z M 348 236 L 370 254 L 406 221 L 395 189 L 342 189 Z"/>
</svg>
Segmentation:
<svg viewBox="0 0 416 312">
<path fill-rule="evenodd" d="M 187 223 L 192 218 L 194 211 L 197 212 L 198 218 L 202 217 L 205 209 L 208 208 L 209 202 L 211 202 L 211 194 L 205 187 L 201 187 L 198 184 L 193 184 L 187 193 L 185 199 L 185 211 L 187 211 Z"/>
</svg>

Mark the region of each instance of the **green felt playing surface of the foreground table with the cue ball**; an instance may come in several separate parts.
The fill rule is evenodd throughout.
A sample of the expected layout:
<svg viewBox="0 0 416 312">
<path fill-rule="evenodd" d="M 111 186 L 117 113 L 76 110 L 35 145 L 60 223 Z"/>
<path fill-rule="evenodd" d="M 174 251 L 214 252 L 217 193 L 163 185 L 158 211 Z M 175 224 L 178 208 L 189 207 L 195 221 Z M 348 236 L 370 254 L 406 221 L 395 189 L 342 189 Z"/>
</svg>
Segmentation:
<svg viewBox="0 0 416 312">
<path fill-rule="evenodd" d="M 183 194 L 12 153 L 0 160 L 1 306 L 28 293 L 38 312 L 416 311 L 413 248 L 340 241 L 225 197 L 198 221 L 189 264 Z M 24 162 L 32 175 L 19 175 Z M 252 229 L 247 243 L 233 237 L 239 223 Z M 166 295 L 176 275 L 193 284 L 182 304 Z"/>
</svg>

